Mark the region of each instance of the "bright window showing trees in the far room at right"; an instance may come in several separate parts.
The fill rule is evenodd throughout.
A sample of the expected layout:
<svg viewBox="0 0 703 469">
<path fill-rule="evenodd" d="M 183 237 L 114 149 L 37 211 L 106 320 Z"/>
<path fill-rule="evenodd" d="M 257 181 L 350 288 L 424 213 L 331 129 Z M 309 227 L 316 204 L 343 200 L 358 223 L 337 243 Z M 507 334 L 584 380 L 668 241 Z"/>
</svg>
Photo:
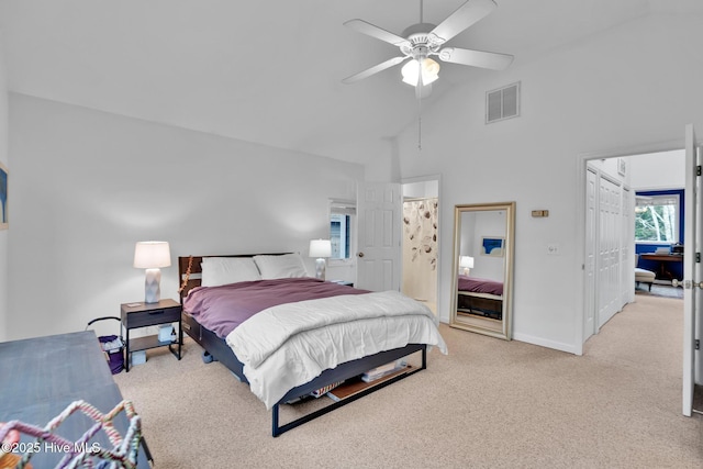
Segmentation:
<svg viewBox="0 0 703 469">
<path fill-rule="evenodd" d="M 679 242 L 679 194 L 637 196 L 635 241 L 638 243 Z"/>
</svg>

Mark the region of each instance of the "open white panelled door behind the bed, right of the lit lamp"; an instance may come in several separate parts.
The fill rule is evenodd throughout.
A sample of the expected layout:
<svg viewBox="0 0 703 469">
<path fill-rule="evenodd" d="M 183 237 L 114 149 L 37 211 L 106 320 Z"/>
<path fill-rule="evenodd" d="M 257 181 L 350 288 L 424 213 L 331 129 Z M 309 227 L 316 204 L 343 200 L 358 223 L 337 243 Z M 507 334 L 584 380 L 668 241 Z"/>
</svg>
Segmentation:
<svg viewBox="0 0 703 469">
<path fill-rule="evenodd" d="M 400 290 L 402 203 L 399 183 L 359 183 L 357 288 Z"/>
</svg>

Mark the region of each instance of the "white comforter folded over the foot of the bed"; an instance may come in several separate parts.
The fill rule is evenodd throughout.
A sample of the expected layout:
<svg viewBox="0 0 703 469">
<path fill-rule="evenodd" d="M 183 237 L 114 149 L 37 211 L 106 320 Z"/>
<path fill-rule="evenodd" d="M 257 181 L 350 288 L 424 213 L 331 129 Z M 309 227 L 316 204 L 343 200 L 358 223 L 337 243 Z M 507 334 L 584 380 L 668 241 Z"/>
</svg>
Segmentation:
<svg viewBox="0 0 703 469">
<path fill-rule="evenodd" d="M 252 391 L 270 409 L 290 389 L 345 361 L 408 344 L 447 348 L 438 320 L 397 291 L 332 297 L 269 308 L 226 337 Z"/>
</svg>

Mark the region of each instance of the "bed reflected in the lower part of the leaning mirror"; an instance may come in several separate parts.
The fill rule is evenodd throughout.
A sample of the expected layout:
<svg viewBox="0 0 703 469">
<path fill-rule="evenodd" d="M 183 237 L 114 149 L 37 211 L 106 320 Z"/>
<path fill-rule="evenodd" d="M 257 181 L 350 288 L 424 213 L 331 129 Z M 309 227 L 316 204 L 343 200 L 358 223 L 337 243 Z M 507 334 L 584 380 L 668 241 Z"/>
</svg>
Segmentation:
<svg viewBox="0 0 703 469">
<path fill-rule="evenodd" d="M 503 282 L 460 275 L 457 312 L 502 320 Z"/>
</svg>

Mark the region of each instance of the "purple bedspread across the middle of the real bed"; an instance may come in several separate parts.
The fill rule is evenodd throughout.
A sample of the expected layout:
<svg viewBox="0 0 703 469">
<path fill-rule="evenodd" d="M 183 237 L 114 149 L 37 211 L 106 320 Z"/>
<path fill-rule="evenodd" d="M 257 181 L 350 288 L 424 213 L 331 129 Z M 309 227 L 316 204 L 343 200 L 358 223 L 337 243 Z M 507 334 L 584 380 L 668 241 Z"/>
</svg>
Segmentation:
<svg viewBox="0 0 703 469">
<path fill-rule="evenodd" d="M 183 310 L 201 325 L 224 338 L 236 326 L 267 308 L 361 293 L 368 291 L 309 277 L 255 280 L 220 287 L 197 287 L 186 297 Z"/>
</svg>

